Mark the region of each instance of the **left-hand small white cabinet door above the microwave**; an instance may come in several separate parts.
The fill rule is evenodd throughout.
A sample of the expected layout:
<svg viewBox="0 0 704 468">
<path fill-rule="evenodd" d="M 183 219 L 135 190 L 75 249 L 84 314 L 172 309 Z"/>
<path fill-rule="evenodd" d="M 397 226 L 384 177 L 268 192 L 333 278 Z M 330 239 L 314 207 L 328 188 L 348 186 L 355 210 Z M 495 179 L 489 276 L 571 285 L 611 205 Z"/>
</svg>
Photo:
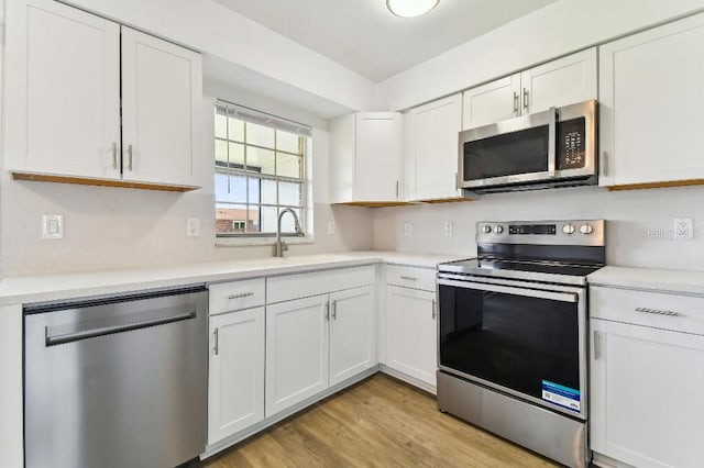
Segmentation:
<svg viewBox="0 0 704 468">
<path fill-rule="evenodd" d="M 520 115 L 520 74 L 512 75 L 462 93 L 462 130 Z"/>
</svg>

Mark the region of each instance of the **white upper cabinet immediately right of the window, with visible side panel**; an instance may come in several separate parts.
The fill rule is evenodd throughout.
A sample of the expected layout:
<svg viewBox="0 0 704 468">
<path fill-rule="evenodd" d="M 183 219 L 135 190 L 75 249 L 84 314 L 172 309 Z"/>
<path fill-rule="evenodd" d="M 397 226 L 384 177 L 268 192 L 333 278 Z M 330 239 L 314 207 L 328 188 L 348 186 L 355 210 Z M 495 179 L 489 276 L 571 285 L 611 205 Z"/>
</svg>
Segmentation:
<svg viewBox="0 0 704 468">
<path fill-rule="evenodd" d="M 398 112 L 358 112 L 332 120 L 331 202 L 398 202 L 403 132 Z"/>
</svg>

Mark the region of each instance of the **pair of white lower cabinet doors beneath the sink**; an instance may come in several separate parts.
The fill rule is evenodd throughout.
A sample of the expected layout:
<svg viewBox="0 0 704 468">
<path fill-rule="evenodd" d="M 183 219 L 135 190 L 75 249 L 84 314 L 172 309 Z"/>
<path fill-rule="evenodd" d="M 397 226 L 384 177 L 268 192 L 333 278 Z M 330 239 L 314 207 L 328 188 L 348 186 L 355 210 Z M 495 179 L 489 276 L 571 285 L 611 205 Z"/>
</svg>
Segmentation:
<svg viewBox="0 0 704 468">
<path fill-rule="evenodd" d="M 374 288 L 266 308 L 266 417 L 371 367 Z"/>
</svg>

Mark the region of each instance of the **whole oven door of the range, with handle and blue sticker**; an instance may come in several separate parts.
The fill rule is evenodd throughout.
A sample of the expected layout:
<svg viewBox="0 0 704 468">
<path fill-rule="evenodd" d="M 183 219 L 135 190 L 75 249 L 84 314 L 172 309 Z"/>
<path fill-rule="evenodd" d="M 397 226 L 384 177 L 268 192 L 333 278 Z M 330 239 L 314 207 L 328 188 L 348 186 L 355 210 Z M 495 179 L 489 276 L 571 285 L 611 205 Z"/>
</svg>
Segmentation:
<svg viewBox="0 0 704 468">
<path fill-rule="evenodd" d="M 584 289 L 452 277 L 438 279 L 440 369 L 586 420 Z"/>
</svg>

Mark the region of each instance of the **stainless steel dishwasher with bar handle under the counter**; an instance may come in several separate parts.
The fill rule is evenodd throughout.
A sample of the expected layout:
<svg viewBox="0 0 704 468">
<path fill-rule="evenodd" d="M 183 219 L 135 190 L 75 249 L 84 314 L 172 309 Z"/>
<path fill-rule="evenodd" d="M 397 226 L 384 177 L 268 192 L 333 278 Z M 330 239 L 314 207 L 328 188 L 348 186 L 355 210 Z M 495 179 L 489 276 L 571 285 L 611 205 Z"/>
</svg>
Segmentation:
<svg viewBox="0 0 704 468">
<path fill-rule="evenodd" d="M 174 467 L 206 446 L 204 286 L 24 308 L 34 467 Z"/>
</svg>

